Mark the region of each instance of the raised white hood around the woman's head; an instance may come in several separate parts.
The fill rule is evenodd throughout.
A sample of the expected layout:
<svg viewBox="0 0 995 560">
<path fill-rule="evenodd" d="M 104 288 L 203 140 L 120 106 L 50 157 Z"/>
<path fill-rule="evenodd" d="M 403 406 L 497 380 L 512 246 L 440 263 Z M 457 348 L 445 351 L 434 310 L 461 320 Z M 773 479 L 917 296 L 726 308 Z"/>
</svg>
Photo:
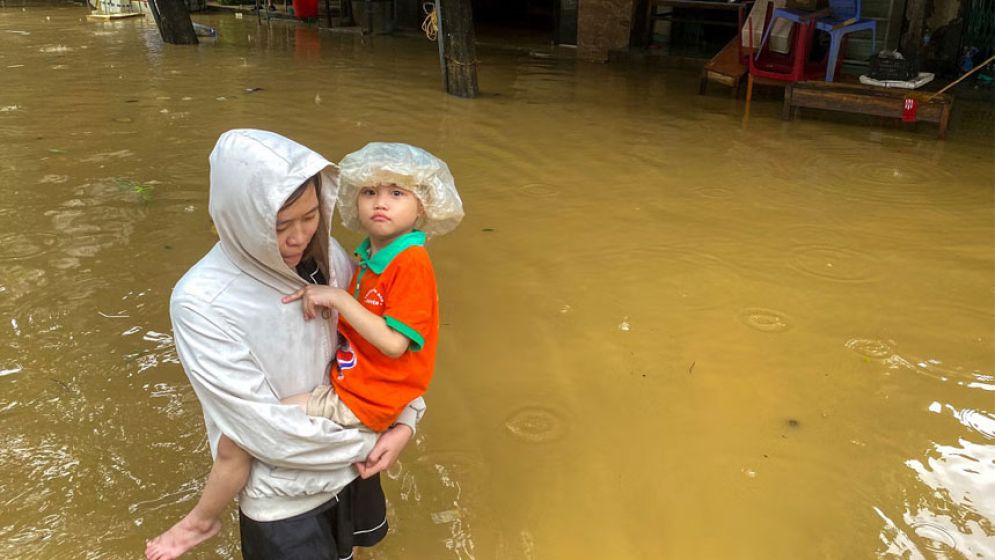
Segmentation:
<svg viewBox="0 0 995 560">
<path fill-rule="evenodd" d="M 208 211 L 228 258 L 242 272 L 272 288 L 298 289 L 302 280 L 280 257 L 276 215 L 304 181 L 320 173 L 324 228 L 315 235 L 330 235 L 338 167 L 289 138 L 252 129 L 222 134 L 210 161 Z"/>
</svg>

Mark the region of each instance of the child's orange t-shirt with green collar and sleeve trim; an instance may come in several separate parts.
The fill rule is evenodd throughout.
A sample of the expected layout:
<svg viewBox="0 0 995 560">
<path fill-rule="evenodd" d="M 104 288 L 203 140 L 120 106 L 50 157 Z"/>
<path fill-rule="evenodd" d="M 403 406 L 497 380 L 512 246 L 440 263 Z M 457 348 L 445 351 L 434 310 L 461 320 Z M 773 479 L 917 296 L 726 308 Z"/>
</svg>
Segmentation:
<svg viewBox="0 0 995 560">
<path fill-rule="evenodd" d="M 439 336 L 439 297 L 435 272 L 425 250 L 425 234 L 399 237 L 369 258 L 369 240 L 356 249 L 359 266 L 350 291 L 369 311 L 411 340 L 397 358 L 385 356 L 345 318 L 339 318 L 343 345 L 331 372 L 335 393 L 363 424 L 382 432 L 404 407 L 428 389 Z"/>
</svg>

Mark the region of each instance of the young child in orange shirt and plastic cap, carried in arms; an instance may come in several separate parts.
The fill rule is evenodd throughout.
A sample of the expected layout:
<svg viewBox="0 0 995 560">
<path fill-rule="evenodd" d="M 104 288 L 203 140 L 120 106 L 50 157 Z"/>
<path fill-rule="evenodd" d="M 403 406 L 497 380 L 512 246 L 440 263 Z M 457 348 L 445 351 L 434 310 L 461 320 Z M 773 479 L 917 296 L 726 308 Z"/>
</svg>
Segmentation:
<svg viewBox="0 0 995 560">
<path fill-rule="evenodd" d="M 340 163 L 337 201 L 343 224 L 366 233 L 350 290 L 309 284 L 283 298 L 300 300 L 306 319 L 339 313 L 339 347 L 330 384 L 282 402 L 344 427 L 388 429 L 428 388 L 439 331 L 438 295 L 428 236 L 452 231 L 463 204 L 446 164 L 407 144 L 367 144 Z M 298 267 L 300 272 L 300 267 Z M 373 462 L 356 465 L 364 478 Z M 179 523 L 149 542 L 146 557 L 180 556 L 220 529 L 219 516 L 245 485 L 252 457 L 222 438 L 204 492 Z"/>
</svg>

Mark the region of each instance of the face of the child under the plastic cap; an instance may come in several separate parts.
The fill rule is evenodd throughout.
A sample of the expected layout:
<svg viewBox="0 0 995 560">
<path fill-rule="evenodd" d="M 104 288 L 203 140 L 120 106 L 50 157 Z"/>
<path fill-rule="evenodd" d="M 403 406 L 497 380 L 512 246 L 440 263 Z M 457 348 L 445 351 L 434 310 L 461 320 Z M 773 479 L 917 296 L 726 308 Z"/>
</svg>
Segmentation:
<svg viewBox="0 0 995 560">
<path fill-rule="evenodd" d="M 418 197 L 397 185 L 376 185 L 359 189 L 356 210 L 360 225 L 377 249 L 410 233 L 422 215 Z"/>
</svg>

